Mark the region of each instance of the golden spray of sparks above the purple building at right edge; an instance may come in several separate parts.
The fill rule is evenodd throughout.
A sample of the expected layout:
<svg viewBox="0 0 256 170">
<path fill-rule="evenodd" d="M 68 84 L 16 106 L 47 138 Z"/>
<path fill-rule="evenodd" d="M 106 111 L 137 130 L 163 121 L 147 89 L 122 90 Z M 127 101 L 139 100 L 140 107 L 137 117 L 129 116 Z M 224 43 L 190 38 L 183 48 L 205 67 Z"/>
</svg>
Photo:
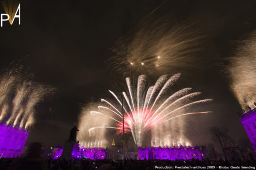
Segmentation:
<svg viewBox="0 0 256 170">
<path fill-rule="evenodd" d="M 242 41 L 235 57 L 230 58 L 227 72 L 230 88 L 245 111 L 256 102 L 256 32 Z"/>
</svg>

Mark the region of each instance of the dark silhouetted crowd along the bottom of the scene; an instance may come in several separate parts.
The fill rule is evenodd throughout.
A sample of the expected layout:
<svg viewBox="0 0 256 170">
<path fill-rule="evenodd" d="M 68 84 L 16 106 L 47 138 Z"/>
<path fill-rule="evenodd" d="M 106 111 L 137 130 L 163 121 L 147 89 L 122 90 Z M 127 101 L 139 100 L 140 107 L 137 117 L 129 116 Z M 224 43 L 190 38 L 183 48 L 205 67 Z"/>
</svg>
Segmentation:
<svg viewBox="0 0 256 170">
<path fill-rule="evenodd" d="M 207 166 L 214 169 L 219 166 L 256 166 L 255 160 L 91 160 L 91 159 L 51 159 L 42 157 L 42 145 L 34 143 L 30 145 L 25 156 L 19 158 L 1 158 L 0 170 L 82 170 L 82 169 L 106 169 L 106 170 L 141 170 L 161 169 L 161 167 L 197 167 L 202 169 Z M 166 169 L 166 168 L 165 168 Z M 183 169 L 183 168 L 182 168 Z"/>
</svg>

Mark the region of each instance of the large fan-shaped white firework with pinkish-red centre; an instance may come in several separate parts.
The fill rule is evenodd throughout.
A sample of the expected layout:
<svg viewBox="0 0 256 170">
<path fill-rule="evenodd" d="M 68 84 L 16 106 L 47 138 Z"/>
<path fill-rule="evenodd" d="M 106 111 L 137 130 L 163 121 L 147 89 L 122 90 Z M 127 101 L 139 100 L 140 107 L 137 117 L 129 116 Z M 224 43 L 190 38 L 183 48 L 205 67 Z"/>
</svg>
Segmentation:
<svg viewBox="0 0 256 170">
<path fill-rule="evenodd" d="M 118 97 L 113 91 L 109 90 L 116 101 L 101 99 L 104 105 L 98 106 L 97 111 L 91 110 L 89 114 L 87 109 L 86 112 L 82 112 L 79 128 L 83 129 L 91 137 L 94 137 L 95 133 L 102 132 L 102 130 L 106 131 L 107 129 L 116 130 L 116 134 L 122 134 L 123 106 L 124 132 L 131 133 L 135 144 L 141 146 L 147 131 L 159 131 L 168 121 L 186 115 L 211 113 L 186 111 L 191 106 L 211 101 L 211 99 L 190 101 L 191 98 L 201 94 L 200 92 L 189 94 L 191 88 L 181 89 L 169 96 L 168 91 L 179 77 L 180 74 L 174 74 L 168 79 L 167 75 L 163 75 L 156 81 L 154 86 L 149 88 L 146 88 L 145 75 L 139 76 L 137 87 L 132 85 L 130 78 L 126 78 L 127 91 L 123 91 L 122 95 Z M 86 123 L 84 125 L 85 122 L 89 124 Z M 83 140 L 83 137 L 78 137 L 78 140 Z"/>
</svg>

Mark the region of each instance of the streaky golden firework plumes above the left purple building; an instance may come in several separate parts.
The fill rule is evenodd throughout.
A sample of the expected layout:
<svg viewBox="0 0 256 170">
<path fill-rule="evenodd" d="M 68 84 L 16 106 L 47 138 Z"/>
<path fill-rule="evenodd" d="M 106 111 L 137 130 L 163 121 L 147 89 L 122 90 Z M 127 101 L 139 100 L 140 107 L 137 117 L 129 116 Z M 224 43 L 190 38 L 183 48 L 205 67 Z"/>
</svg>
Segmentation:
<svg viewBox="0 0 256 170">
<path fill-rule="evenodd" d="M 27 129 L 35 122 L 36 105 L 54 89 L 33 81 L 22 66 L 5 70 L 0 77 L 0 121 Z"/>
</svg>

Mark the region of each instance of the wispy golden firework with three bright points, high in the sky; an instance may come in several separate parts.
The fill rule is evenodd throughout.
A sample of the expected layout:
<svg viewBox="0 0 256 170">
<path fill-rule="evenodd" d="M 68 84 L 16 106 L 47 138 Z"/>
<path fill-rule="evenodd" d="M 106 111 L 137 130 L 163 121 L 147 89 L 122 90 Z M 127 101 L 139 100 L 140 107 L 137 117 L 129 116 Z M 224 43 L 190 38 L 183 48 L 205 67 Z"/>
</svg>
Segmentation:
<svg viewBox="0 0 256 170">
<path fill-rule="evenodd" d="M 194 67 L 206 36 L 194 20 L 178 22 L 167 16 L 145 19 L 112 48 L 108 62 L 118 73 L 174 73 Z M 135 32 L 135 33 L 134 33 Z M 201 61 L 202 62 L 202 61 Z M 172 68 L 172 69 L 170 69 Z M 195 67 L 193 68 L 195 69 Z"/>
</svg>

